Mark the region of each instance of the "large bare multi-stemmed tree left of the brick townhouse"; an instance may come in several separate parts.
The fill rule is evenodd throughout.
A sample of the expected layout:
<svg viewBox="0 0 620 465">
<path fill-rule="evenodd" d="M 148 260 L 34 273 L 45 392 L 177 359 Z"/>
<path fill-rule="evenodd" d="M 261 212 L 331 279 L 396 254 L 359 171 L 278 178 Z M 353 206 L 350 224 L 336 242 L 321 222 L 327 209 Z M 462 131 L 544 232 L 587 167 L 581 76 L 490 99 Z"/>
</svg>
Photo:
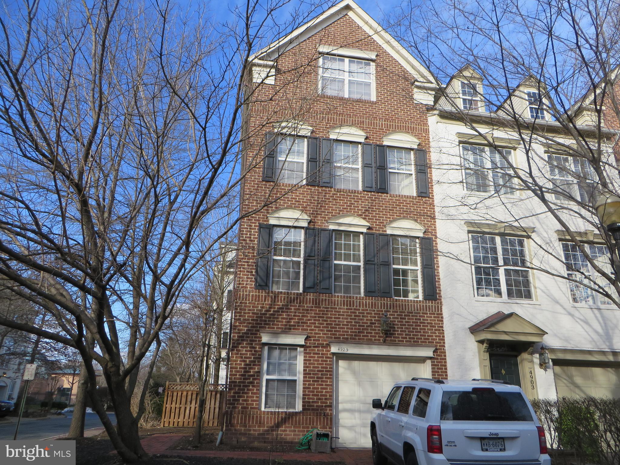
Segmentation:
<svg viewBox="0 0 620 465">
<path fill-rule="evenodd" d="M 252 53 L 316 9 L 287 18 L 286 6 L 248 2 L 221 26 L 166 1 L 32 0 L 0 17 L 0 277 L 60 330 L 3 316 L 0 324 L 79 351 L 94 410 L 125 461 L 145 456 L 138 423 L 159 334 L 241 218 L 221 227 L 229 199 L 262 162 L 265 139 L 255 136 L 281 120 L 249 131 L 242 110 L 264 99 L 248 84 L 277 73 L 255 74 Z M 94 363 L 116 427 L 97 396 Z"/>
</svg>

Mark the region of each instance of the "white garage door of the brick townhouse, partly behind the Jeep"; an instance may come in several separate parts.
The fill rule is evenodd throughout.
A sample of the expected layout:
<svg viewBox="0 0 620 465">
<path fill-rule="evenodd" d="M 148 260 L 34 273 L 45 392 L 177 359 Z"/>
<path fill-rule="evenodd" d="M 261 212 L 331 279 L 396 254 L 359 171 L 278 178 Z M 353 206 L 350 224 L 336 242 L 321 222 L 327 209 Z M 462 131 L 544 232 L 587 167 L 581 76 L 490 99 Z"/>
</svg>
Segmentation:
<svg viewBox="0 0 620 465">
<path fill-rule="evenodd" d="M 385 400 L 397 381 L 427 376 L 424 361 L 336 358 L 334 441 L 337 447 L 370 447 L 373 399 Z"/>
</svg>

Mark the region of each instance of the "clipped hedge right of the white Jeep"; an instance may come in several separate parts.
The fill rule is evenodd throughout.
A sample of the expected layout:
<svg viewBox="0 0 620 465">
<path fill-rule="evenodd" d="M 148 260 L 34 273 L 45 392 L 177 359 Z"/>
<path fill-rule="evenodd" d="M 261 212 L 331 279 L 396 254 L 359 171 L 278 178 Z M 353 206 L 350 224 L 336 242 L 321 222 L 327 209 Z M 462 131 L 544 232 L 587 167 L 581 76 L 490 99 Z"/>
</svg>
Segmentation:
<svg viewBox="0 0 620 465">
<path fill-rule="evenodd" d="M 532 406 L 554 465 L 620 465 L 620 399 L 560 397 Z"/>
</svg>

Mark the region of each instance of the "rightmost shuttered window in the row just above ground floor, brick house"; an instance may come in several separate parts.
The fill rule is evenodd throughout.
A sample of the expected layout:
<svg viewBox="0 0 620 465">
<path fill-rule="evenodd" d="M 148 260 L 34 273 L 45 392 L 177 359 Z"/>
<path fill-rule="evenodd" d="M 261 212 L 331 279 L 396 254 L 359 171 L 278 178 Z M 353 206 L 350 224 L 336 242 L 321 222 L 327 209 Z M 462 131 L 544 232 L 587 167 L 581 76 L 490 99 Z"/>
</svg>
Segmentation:
<svg viewBox="0 0 620 465">
<path fill-rule="evenodd" d="M 391 239 L 394 297 L 419 299 L 420 259 L 418 257 L 417 238 L 391 236 Z"/>
</svg>

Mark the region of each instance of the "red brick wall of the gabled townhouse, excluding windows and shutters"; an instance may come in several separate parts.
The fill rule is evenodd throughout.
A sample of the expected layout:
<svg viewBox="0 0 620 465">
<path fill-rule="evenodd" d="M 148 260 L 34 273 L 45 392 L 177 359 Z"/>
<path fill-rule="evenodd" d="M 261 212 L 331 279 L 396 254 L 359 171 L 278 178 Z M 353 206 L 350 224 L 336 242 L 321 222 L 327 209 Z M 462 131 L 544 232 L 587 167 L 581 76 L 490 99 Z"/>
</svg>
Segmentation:
<svg viewBox="0 0 620 465">
<path fill-rule="evenodd" d="M 341 99 L 316 95 L 317 47 L 335 45 L 374 51 L 376 58 L 376 101 Z M 428 149 L 427 109 L 415 104 L 412 76 L 386 50 L 358 27 L 342 17 L 321 32 L 300 43 L 278 59 L 275 85 L 264 84 L 255 91 L 257 103 L 246 112 L 247 130 L 256 137 L 246 145 L 246 161 L 262 156 L 262 134 L 280 119 L 303 120 L 312 126 L 313 136 L 329 137 L 329 129 L 342 124 L 357 126 L 368 135 L 367 142 L 381 144 L 391 131 L 405 131 Z M 259 102 L 260 101 L 260 102 Z M 253 143 L 252 143 L 253 142 Z M 430 154 L 428 157 L 430 162 Z M 432 187 L 432 170 L 430 189 Z M 242 211 L 260 208 L 290 189 L 290 185 L 263 182 L 262 166 L 247 175 L 243 187 Z M 244 219 L 239 227 L 239 258 L 232 330 L 227 441 L 273 440 L 276 423 L 273 412 L 259 406 L 262 330 L 308 332 L 303 361 L 302 412 L 280 415 L 278 434 L 296 441 L 310 428 L 332 427 L 332 355 L 330 340 L 382 343 L 379 322 L 387 311 L 395 330 L 386 343 L 426 344 L 437 348 L 432 374 L 447 376 L 441 287 L 437 301 L 336 296 L 314 293 L 272 292 L 254 289 L 255 254 L 259 223 L 278 208 L 299 208 L 311 218 L 309 226 L 325 227 L 326 221 L 343 213 L 360 216 L 371 224 L 369 232 L 385 232 L 385 225 L 397 218 L 412 218 L 435 236 L 435 206 L 430 198 L 375 192 L 303 186 Z M 438 262 L 436 260 L 438 280 Z"/>
</svg>

